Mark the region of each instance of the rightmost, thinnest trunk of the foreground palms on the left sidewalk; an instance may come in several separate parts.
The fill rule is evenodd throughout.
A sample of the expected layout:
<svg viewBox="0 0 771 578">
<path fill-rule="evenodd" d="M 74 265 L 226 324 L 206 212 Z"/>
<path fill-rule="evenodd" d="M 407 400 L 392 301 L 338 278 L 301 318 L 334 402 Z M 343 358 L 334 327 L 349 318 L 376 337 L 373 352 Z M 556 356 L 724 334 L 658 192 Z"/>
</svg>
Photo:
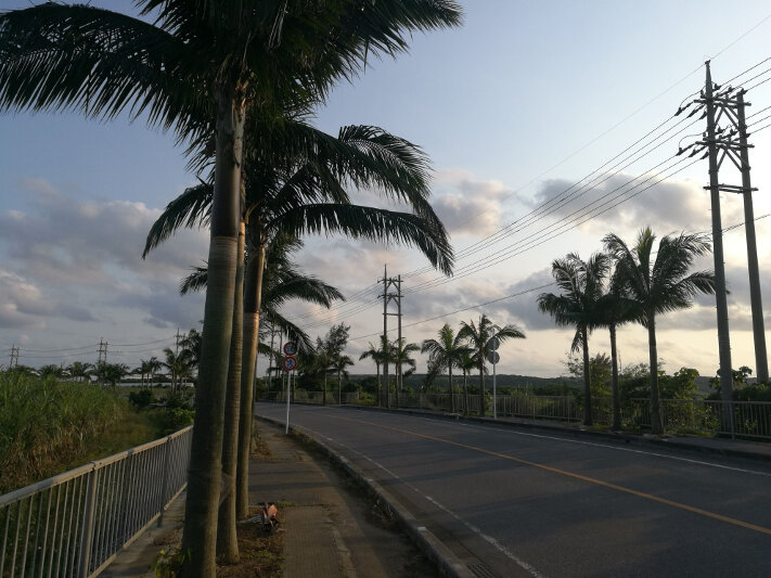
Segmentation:
<svg viewBox="0 0 771 578">
<path fill-rule="evenodd" d="M 252 453 L 252 416 L 255 361 L 259 339 L 259 310 L 262 301 L 265 244 L 255 247 L 244 274 L 244 348 L 241 370 L 241 415 L 239 418 L 239 467 L 235 474 L 235 515 L 249 514 L 249 455 Z M 282 380 L 283 383 L 283 380 Z M 283 389 L 285 390 L 285 389 Z"/>
</svg>

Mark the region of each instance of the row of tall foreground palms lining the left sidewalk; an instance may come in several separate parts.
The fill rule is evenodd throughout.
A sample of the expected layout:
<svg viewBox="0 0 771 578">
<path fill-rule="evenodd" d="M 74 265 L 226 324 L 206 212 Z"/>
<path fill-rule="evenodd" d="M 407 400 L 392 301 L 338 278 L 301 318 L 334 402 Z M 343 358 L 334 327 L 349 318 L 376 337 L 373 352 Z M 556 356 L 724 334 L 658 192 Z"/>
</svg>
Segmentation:
<svg viewBox="0 0 771 578">
<path fill-rule="evenodd" d="M 201 210 L 177 211 L 167 224 L 204 221 L 210 232 L 182 575 L 213 576 L 216 543 L 224 562 L 237 560 L 236 493 L 239 513 L 247 513 L 243 470 L 272 237 L 337 231 L 413 244 L 445 272 L 452 265 L 420 150 L 372 127 L 335 140 L 303 118 L 369 59 L 406 51 L 414 31 L 458 25 L 461 10 L 451 0 L 136 4 L 140 17 L 54 2 L 0 14 L 0 110 L 129 112 L 172 129 L 204 175 L 185 191 Z M 375 152 L 362 149 L 368 140 Z M 384 191 L 412 213 L 355 208 L 348 187 Z M 329 204 L 337 209 L 324 210 Z M 220 472 L 236 478 L 233 445 L 240 480 L 222 491 Z"/>
</svg>

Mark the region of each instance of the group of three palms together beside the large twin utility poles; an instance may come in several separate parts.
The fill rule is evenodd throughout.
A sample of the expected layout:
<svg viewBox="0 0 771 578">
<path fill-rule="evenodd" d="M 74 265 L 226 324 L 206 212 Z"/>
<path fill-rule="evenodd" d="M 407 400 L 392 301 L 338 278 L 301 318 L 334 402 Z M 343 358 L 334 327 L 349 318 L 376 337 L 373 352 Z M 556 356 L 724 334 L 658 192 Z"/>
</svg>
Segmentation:
<svg viewBox="0 0 771 578">
<path fill-rule="evenodd" d="M 659 410 L 658 316 L 691 307 L 698 294 L 715 292 L 711 271 L 690 272 L 694 260 L 710 252 L 703 234 L 671 234 L 655 246 L 651 228 L 638 234 L 632 245 L 614 233 L 603 237 L 603 252 L 582 260 L 570 253 L 552 261 L 552 275 L 561 292 L 538 297 L 541 311 L 562 326 L 575 326 L 571 350 L 583 352 L 583 420 L 592 424 L 589 371 L 589 336 L 596 329 L 607 329 L 611 337 L 613 426 L 620 428 L 618 393 L 618 355 L 616 331 L 625 323 L 639 323 L 647 330 L 651 374 L 651 424 L 654 434 L 664 433 Z"/>
</svg>

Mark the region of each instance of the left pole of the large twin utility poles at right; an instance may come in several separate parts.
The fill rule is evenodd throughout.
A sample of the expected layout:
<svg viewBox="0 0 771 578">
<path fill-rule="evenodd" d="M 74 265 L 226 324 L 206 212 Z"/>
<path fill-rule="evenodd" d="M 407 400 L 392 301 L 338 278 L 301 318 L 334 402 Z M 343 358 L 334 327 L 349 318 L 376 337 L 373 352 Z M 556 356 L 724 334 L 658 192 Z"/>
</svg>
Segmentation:
<svg viewBox="0 0 771 578">
<path fill-rule="evenodd" d="M 723 261 L 723 236 L 720 219 L 720 182 L 718 177 L 718 146 L 716 139 L 716 99 L 712 92 L 712 75 L 707 66 L 704 98 L 697 102 L 707 105 L 707 139 L 709 156 L 709 194 L 712 208 L 712 255 L 715 257 L 715 296 L 718 312 L 718 351 L 720 357 L 720 391 L 723 400 L 723 420 L 733 434 L 733 371 L 731 367 L 731 338 L 729 336 L 728 299 L 725 297 L 725 268 Z M 724 156 L 723 156 L 724 158 Z"/>
</svg>

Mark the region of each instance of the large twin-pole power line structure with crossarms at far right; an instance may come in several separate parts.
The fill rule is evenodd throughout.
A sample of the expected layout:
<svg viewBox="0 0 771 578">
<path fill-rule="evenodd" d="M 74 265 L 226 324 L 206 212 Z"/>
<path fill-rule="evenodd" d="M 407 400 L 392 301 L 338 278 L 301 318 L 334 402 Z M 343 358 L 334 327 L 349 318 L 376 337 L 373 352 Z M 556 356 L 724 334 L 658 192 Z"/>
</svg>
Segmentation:
<svg viewBox="0 0 771 578">
<path fill-rule="evenodd" d="M 768 383 L 768 356 L 766 349 L 766 330 L 763 308 L 760 295 L 760 271 L 755 237 L 755 211 L 753 208 L 753 189 L 750 181 L 749 149 L 744 89 L 728 87 L 720 90 L 712 84 L 709 62 L 706 63 L 707 79 L 702 98 L 695 102 L 706 104 L 707 132 L 701 142 L 708 149 L 709 187 L 712 205 L 712 243 L 715 255 L 715 277 L 718 307 L 718 342 L 720 346 L 720 388 L 723 401 L 732 399 L 731 351 L 728 329 L 728 305 L 725 298 L 725 272 L 722 254 L 722 230 L 720 224 L 720 192 L 742 194 L 744 200 L 744 226 L 747 237 L 747 268 L 749 271 L 749 298 L 753 311 L 753 335 L 755 341 L 755 367 L 758 382 Z M 718 92 L 715 92 L 718 90 Z M 725 119 L 729 126 L 721 128 L 719 123 Z M 731 159 L 742 175 L 742 184 L 721 184 L 719 169 L 725 158 Z"/>
</svg>

